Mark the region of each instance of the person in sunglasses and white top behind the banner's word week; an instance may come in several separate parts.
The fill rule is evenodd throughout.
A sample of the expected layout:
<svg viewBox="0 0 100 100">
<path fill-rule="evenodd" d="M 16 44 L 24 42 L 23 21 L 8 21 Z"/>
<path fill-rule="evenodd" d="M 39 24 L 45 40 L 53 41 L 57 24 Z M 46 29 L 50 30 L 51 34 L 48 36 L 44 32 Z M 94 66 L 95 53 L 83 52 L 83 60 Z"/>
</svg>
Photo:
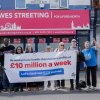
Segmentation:
<svg viewBox="0 0 100 100">
<path fill-rule="evenodd" d="M 60 42 L 58 48 L 54 50 L 54 52 L 65 52 L 66 49 L 64 47 L 64 42 Z M 65 88 L 65 80 L 57 80 L 56 82 L 57 88 Z"/>
</svg>

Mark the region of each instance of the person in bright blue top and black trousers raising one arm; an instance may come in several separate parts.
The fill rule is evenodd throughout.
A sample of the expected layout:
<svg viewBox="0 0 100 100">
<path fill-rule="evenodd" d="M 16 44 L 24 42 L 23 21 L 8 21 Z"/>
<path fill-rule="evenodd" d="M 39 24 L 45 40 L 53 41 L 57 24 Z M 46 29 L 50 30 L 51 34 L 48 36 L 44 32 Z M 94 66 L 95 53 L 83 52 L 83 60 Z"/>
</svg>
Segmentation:
<svg viewBox="0 0 100 100">
<path fill-rule="evenodd" d="M 82 50 L 84 57 L 85 57 L 85 65 L 87 67 L 87 89 L 96 90 L 97 85 L 97 76 L 96 76 L 96 69 L 97 69 L 97 57 L 96 57 L 96 50 L 100 48 L 100 45 L 93 40 L 94 46 L 90 46 L 90 42 L 86 41 L 84 43 L 85 49 Z M 90 74 L 91 73 L 91 74 Z M 90 80 L 91 75 L 91 80 Z M 92 81 L 92 82 L 91 82 Z"/>
</svg>

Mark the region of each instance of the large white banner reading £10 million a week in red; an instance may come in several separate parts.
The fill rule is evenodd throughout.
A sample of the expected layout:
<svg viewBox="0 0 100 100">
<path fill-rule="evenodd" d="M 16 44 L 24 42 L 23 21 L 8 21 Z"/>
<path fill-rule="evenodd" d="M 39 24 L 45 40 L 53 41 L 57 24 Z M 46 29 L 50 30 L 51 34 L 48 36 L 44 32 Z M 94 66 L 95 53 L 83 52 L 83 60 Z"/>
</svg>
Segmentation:
<svg viewBox="0 0 100 100">
<path fill-rule="evenodd" d="M 5 54 L 4 67 L 10 83 L 76 78 L 76 52 Z"/>
</svg>

